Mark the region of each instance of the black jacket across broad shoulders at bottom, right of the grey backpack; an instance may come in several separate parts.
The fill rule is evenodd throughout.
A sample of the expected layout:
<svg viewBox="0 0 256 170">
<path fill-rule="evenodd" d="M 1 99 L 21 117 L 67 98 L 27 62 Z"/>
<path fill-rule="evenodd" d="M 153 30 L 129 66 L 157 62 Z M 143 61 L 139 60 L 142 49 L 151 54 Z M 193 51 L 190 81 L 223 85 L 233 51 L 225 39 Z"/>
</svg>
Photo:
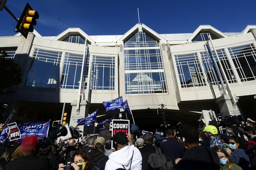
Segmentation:
<svg viewBox="0 0 256 170">
<path fill-rule="evenodd" d="M 215 150 L 205 146 L 195 146 L 187 150 L 184 157 L 178 162 L 175 170 L 186 169 L 219 170 L 220 160 Z"/>
</svg>

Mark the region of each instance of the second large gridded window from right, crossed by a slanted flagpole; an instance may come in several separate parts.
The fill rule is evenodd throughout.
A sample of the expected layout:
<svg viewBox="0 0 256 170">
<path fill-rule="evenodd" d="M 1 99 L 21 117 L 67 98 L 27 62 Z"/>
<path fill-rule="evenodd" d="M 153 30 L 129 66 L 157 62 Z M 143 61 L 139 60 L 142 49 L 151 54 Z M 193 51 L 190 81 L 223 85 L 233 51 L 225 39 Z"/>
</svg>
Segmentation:
<svg viewBox="0 0 256 170">
<path fill-rule="evenodd" d="M 219 50 L 216 50 L 216 51 L 217 51 L 217 54 L 219 56 L 221 65 L 222 65 L 222 67 L 224 69 L 224 72 L 225 72 L 225 75 L 227 77 L 228 82 L 229 83 L 237 82 L 235 74 L 234 74 L 233 69 L 232 69 L 232 67 L 230 65 L 230 62 L 229 62 L 229 60 L 227 58 L 225 50 L 224 49 L 219 49 Z M 206 72 L 206 75 L 207 75 L 207 78 L 208 78 L 210 84 L 212 84 L 212 85 L 216 85 L 217 84 L 211 66 L 213 66 L 213 69 L 214 69 L 214 71 L 216 73 L 216 76 L 218 78 L 218 82 L 220 83 L 220 77 L 218 76 L 217 70 L 214 67 L 213 59 L 209 58 L 210 57 L 209 53 L 207 55 L 206 52 L 200 52 L 200 54 L 201 54 L 202 61 L 203 61 L 203 64 L 204 64 L 204 69 L 205 69 L 205 72 Z M 217 65 L 218 65 L 218 68 L 220 70 L 220 65 L 219 65 L 219 62 L 217 60 L 217 56 L 216 56 L 215 52 L 212 51 L 212 54 L 213 54 L 213 57 L 215 58 L 215 61 L 216 61 Z M 225 82 L 221 72 L 220 72 L 220 74 L 221 74 L 223 82 Z"/>
</svg>

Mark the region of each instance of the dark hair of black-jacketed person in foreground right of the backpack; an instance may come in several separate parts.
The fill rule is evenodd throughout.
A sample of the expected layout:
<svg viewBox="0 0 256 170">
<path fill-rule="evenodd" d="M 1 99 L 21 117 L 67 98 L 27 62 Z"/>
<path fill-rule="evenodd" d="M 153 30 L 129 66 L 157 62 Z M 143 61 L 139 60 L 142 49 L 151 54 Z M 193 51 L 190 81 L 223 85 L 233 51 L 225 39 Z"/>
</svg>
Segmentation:
<svg viewBox="0 0 256 170">
<path fill-rule="evenodd" d="M 185 138 L 186 143 L 198 143 L 199 132 L 194 126 L 185 126 L 182 129 L 182 136 Z"/>
</svg>

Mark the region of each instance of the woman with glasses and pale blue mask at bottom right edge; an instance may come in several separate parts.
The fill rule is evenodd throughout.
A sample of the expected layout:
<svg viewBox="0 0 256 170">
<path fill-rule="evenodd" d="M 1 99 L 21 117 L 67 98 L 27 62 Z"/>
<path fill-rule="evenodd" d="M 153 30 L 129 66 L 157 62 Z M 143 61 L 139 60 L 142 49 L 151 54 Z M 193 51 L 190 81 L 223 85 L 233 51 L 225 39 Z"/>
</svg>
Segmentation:
<svg viewBox="0 0 256 170">
<path fill-rule="evenodd" d="M 221 170 L 242 170 L 241 167 L 233 163 L 225 149 L 219 146 L 215 146 L 213 149 L 219 156 Z"/>
</svg>

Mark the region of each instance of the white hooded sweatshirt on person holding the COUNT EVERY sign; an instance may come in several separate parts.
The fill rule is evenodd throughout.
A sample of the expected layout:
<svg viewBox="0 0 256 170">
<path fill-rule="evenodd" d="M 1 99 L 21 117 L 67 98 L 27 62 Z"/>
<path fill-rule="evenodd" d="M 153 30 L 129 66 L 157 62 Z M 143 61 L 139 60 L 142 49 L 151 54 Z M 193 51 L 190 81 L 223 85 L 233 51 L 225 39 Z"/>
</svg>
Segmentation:
<svg viewBox="0 0 256 170">
<path fill-rule="evenodd" d="M 133 157 L 132 157 L 132 151 Z M 132 163 L 131 163 L 132 157 Z M 131 163 L 131 170 L 141 170 L 142 168 L 142 156 L 138 148 L 131 146 L 125 146 L 120 150 L 114 151 L 108 156 L 109 160 L 106 163 L 105 170 L 116 170 L 118 168 L 129 169 Z M 123 166 L 124 167 L 123 167 Z"/>
</svg>

